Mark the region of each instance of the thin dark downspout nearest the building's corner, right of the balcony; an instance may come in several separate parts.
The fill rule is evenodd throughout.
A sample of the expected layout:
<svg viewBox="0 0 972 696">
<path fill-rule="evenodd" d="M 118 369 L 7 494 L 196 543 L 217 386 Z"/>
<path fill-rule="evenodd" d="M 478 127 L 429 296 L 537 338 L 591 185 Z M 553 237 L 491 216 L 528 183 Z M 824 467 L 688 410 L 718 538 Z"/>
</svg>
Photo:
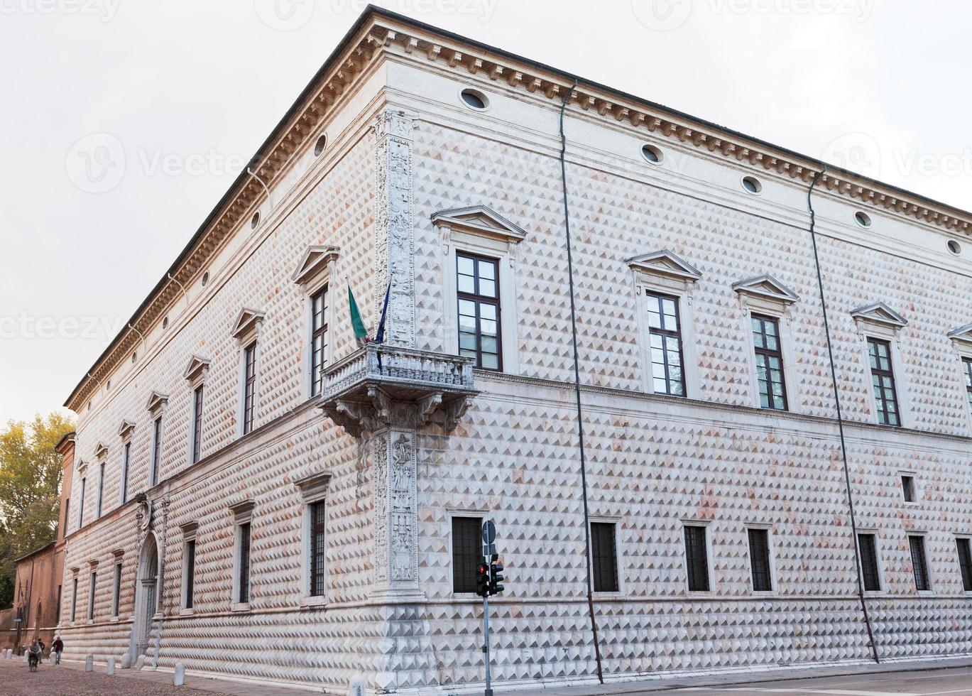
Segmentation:
<svg viewBox="0 0 972 696">
<path fill-rule="evenodd" d="M 560 106 L 560 179 L 564 191 L 564 233 L 567 237 L 567 279 L 571 292 L 571 337 L 573 340 L 573 395 L 577 403 L 577 447 L 580 450 L 580 489 L 584 503 L 584 561 L 587 568 L 587 611 L 591 617 L 591 635 L 594 639 L 594 659 L 598 665 L 598 681 L 605 682 L 601 665 L 601 645 L 598 643 L 598 622 L 594 616 L 594 592 L 591 582 L 591 525 L 587 510 L 587 463 L 584 458 L 584 420 L 580 403 L 580 364 L 577 358 L 577 312 L 573 301 L 573 259 L 571 256 L 571 211 L 567 202 L 567 137 L 564 135 L 564 112 L 577 88 L 573 81 L 571 89 Z"/>
</svg>

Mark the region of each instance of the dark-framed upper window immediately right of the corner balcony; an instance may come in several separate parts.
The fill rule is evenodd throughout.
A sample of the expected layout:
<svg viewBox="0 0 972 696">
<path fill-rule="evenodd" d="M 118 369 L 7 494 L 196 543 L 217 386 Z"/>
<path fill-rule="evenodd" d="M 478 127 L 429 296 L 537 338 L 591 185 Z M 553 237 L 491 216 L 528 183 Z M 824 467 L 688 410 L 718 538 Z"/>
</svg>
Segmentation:
<svg viewBox="0 0 972 696">
<path fill-rule="evenodd" d="M 499 270 L 495 259 L 456 254 L 459 354 L 483 369 L 503 369 Z"/>
</svg>

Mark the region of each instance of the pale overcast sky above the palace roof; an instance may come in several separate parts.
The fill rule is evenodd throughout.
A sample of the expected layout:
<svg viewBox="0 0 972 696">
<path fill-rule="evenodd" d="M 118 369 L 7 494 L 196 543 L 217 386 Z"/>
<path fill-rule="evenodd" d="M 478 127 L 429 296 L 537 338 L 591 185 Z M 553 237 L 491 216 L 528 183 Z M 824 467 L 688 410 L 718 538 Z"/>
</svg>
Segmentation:
<svg viewBox="0 0 972 696">
<path fill-rule="evenodd" d="M 972 209 L 970 3 L 378 4 Z M 0 0 L 0 424 L 60 407 L 364 5 Z"/>
</svg>

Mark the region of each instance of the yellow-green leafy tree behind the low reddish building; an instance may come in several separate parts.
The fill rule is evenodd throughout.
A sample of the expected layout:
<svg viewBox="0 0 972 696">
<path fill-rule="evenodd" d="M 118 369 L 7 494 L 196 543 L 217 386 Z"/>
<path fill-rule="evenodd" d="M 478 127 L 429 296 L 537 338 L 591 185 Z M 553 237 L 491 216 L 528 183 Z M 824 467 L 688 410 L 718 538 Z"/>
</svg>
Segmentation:
<svg viewBox="0 0 972 696">
<path fill-rule="evenodd" d="M 71 419 L 51 413 L 0 433 L 0 607 L 14 599 L 14 560 L 54 539 L 61 477 L 54 447 L 73 430 Z"/>
</svg>

